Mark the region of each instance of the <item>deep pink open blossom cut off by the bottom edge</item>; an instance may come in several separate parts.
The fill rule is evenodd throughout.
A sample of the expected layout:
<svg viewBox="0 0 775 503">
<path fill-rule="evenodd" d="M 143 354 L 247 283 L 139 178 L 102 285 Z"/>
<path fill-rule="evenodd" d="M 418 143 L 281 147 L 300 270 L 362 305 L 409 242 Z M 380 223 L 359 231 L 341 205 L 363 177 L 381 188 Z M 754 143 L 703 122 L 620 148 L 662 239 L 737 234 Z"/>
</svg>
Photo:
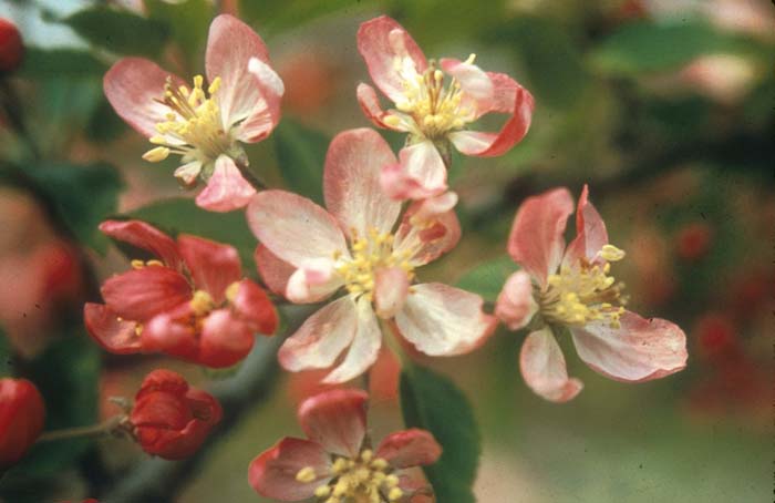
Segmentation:
<svg viewBox="0 0 775 503">
<path fill-rule="evenodd" d="M 412 429 L 388 435 L 372 450 L 368 399 L 353 389 L 307 399 L 298 415 L 309 440 L 285 438 L 259 454 L 248 469 L 250 485 L 280 501 L 409 502 L 423 487 L 396 471 L 435 463 L 442 448 L 427 431 Z"/>
</svg>

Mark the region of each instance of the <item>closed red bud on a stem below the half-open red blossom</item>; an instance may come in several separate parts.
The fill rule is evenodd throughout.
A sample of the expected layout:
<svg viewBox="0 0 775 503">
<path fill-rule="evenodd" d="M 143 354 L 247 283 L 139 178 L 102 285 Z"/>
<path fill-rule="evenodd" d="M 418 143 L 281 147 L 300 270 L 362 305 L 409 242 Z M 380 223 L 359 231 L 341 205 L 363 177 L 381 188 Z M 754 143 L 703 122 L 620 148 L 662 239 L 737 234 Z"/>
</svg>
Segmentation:
<svg viewBox="0 0 775 503">
<path fill-rule="evenodd" d="M 145 452 L 179 460 L 199 449 L 221 415 L 215 398 L 189 388 L 182 376 L 158 369 L 145 377 L 130 419 Z"/>
</svg>

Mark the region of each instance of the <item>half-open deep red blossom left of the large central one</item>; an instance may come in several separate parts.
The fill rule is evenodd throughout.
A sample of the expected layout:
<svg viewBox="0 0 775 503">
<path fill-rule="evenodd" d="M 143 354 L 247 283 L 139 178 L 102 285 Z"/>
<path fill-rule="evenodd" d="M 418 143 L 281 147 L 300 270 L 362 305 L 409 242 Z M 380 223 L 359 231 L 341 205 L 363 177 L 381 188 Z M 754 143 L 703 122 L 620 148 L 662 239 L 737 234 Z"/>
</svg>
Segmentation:
<svg viewBox="0 0 775 503">
<path fill-rule="evenodd" d="M 107 220 L 107 236 L 156 258 L 102 286 L 105 304 L 86 304 L 92 337 L 115 353 L 163 352 L 207 367 L 229 367 L 272 333 L 278 318 L 267 294 L 242 277 L 237 250 L 200 237 L 177 243 L 140 220 Z"/>
</svg>

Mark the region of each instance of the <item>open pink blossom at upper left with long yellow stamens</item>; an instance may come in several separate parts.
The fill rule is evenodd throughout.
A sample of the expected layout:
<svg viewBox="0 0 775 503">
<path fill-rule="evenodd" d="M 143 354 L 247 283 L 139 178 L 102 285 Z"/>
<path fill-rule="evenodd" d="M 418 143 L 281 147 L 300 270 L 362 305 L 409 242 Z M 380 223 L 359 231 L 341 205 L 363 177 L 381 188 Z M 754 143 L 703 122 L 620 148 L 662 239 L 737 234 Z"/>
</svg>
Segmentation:
<svg viewBox="0 0 775 503">
<path fill-rule="evenodd" d="M 104 90 L 116 113 L 157 145 L 143 158 L 180 155 L 175 176 L 185 185 L 207 183 L 196 203 L 228 212 L 256 193 L 242 176 L 248 160 L 239 142 L 271 133 L 285 88 L 260 37 L 228 14 L 210 24 L 205 66 L 209 85 L 196 75 L 187 86 L 149 60 L 124 58 L 105 74 Z"/>
</svg>

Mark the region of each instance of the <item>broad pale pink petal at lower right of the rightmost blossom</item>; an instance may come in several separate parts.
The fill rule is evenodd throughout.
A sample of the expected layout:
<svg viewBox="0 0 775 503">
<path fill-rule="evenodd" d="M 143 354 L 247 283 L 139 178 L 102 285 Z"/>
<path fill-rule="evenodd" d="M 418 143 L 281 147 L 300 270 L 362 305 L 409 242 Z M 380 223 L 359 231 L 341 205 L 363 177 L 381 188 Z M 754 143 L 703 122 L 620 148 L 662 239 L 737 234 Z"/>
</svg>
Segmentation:
<svg viewBox="0 0 775 503">
<path fill-rule="evenodd" d="M 593 370 L 624 382 L 663 378 L 686 367 L 686 336 L 670 321 L 626 311 L 621 328 L 596 321 L 572 329 L 579 357 Z"/>
</svg>

